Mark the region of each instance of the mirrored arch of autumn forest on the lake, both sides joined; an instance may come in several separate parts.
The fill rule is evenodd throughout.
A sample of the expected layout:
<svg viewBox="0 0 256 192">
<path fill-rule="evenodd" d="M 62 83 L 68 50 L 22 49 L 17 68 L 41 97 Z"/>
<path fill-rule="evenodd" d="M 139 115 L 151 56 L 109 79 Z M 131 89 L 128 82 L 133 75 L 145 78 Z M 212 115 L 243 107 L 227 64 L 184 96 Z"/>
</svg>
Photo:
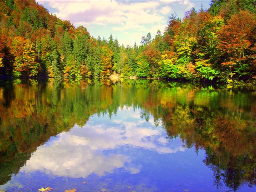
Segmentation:
<svg viewBox="0 0 256 192">
<path fill-rule="evenodd" d="M 132 106 L 141 109 L 141 118 L 152 114 L 156 126 L 162 122 L 170 138 L 204 148 L 217 188 L 255 185 L 252 94 L 150 80 L 0 87 L 0 184 L 51 136 L 86 124 L 93 114 L 111 118 L 119 107 Z"/>
</svg>

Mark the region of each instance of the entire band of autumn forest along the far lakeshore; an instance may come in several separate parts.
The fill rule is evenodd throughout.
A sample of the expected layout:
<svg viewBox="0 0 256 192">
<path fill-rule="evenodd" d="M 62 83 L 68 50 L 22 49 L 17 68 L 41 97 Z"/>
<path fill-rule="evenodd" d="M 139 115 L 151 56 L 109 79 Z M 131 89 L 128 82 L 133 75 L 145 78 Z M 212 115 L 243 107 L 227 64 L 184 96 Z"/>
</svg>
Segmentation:
<svg viewBox="0 0 256 192">
<path fill-rule="evenodd" d="M 0 76 L 171 78 L 232 82 L 256 78 L 256 3 L 212 0 L 208 10 L 172 14 L 162 33 L 120 46 L 90 36 L 34 0 L 0 1 Z"/>
</svg>

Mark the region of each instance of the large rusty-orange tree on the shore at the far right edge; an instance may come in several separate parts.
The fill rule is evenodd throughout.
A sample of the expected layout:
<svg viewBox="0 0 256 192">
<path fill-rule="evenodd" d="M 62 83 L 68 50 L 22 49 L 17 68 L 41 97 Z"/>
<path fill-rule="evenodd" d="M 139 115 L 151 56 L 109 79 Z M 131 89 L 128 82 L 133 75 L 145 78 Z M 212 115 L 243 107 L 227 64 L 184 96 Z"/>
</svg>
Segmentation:
<svg viewBox="0 0 256 192">
<path fill-rule="evenodd" d="M 250 62 L 247 60 L 248 51 L 252 42 L 250 36 L 256 26 L 255 17 L 248 11 L 240 11 L 231 16 L 228 24 L 220 29 L 218 39 L 220 49 L 225 60 L 222 65 L 230 68 L 230 77 L 233 70 L 239 76 L 250 74 Z"/>
</svg>

